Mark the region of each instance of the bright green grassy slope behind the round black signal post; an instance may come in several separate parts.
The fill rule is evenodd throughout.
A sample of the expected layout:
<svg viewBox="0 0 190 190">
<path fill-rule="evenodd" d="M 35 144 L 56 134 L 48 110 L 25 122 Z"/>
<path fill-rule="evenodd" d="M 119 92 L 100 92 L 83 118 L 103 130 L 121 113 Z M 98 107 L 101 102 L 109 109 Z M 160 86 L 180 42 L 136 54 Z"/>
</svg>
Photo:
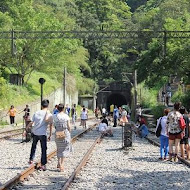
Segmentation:
<svg viewBox="0 0 190 190">
<path fill-rule="evenodd" d="M 56 78 L 51 78 L 49 75 L 33 72 L 30 80 L 26 85 L 17 86 L 12 84 L 6 85 L 6 94 L 1 96 L 0 109 L 8 109 L 10 105 L 19 106 L 28 102 L 40 99 L 41 86 L 38 82 L 39 78 L 46 80 L 43 85 L 44 95 L 50 94 L 52 91 L 61 87 L 61 83 Z"/>
</svg>

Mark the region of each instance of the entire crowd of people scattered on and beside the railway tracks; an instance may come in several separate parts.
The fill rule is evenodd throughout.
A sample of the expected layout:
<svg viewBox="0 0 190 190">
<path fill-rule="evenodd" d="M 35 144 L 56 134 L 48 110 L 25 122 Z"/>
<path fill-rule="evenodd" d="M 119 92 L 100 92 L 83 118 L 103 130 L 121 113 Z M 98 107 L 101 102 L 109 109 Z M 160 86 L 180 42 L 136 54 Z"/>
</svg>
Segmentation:
<svg viewBox="0 0 190 190">
<path fill-rule="evenodd" d="M 67 104 L 64 107 L 63 104 L 56 105 L 52 113 L 49 109 L 49 101 L 43 100 L 41 102 L 41 110 L 34 113 L 33 117 L 30 118 L 30 108 L 28 105 L 24 108 L 24 121 L 27 130 L 32 129 L 32 147 L 30 152 L 29 163 L 32 164 L 36 152 L 36 146 L 38 141 L 41 143 L 41 170 L 46 170 L 47 163 L 47 141 L 52 137 L 52 127 L 55 127 L 55 143 L 57 146 L 57 168 L 59 171 L 64 170 L 64 159 L 70 152 L 72 152 L 71 144 L 71 124 L 70 117 L 72 120 L 73 128 L 76 129 L 76 119 L 77 119 L 77 109 L 76 104 L 73 104 L 70 108 Z M 88 109 L 82 106 L 80 110 L 80 125 L 86 128 L 86 121 L 88 119 Z M 14 123 L 16 109 L 12 105 L 8 111 L 10 115 L 10 123 Z M 113 131 L 110 127 L 109 122 L 113 121 L 113 127 L 118 124 L 120 126 L 125 126 L 126 123 L 130 121 L 130 110 L 127 106 L 122 106 L 117 108 L 115 105 L 110 106 L 109 113 L 105 108 L 101 111 L 97 107 L 94 110 L 96 118 L 100 116 L 100 122 L 97 126 L 97 130 L 102 134 L 102 136 L 113 137 Z M 112 120 L 111 120 L 111 119 Z M 182 124 L 183 120 L 185 127 Z M 47 137 L 47 129 L 49 126 L 49 136 Z M 189 136 L 190 136 L 190 126 L 189 117 L 187 116 L 186 109 L 180 105 L 180 103 L 174 104 L 174 110 L 169 109 L 164 110 L 164 115 L 160 117 L 157 121 L 156 131 L 159 133 L 160 138 L 160 160 L 166 160 L 169 155 L 170 161 L 177 161 L 179 148 L 182 158 L 190 159 L 190 147 L 189 147 Z M 142 115 L 138 115 L 136 133 L 144 138 L 148 135 L 149 131 L 147 124 Z M 173 150 L 173 146 L 175 149 Z M 186 153 L 186 154 L 185 154 Z M 186 157 L 185 157 L 186 155 Z"/>
</svg>

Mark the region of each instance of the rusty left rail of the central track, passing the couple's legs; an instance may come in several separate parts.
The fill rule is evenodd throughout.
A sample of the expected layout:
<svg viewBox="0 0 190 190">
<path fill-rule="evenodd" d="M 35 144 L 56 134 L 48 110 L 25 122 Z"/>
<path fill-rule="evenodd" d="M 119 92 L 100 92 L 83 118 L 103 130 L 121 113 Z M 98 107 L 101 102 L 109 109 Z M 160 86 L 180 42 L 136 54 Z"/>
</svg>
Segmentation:
<svg viewBox="0 0 190 190">
<path fill-rule="evenodd" d="M 92 130 L 95 126 L 97 125 L 97 123 L 91 125 L 88 129 L 82 131 L 81 133 L 79 133 L 78 135 L 74 136 L 71 139 L 71 142 L 75 142 L 77 140 L 77 138 L 81 137 L 83 134 L 87 133 L 88 131 Z M 50 160 L 51 158 L 53 158 L 56 155 L 57 151 L 52 151 L 51 153 L 49 153 L 47 155 L 47 160 Z M 7 181 L 5 184 L 3 184 L 2 186 L 0 186 L 0 190 L 8 190 L 10 187 L 12 187 L 13 185 L 15 185 L 16 183 L 18 183 L 19 181 L 23 181 L 24 179 L 26 179 L 30 174 L 32 174 L 36 168 L 38 168 L 41 165 L 41 161 L 38 161 L 35 165 L 32 164 L 30 167 L 28 167 L 26 170 L 22 171 L 21 173 L 17 174 L 15 177 L 13 177 L 12 179 L 10 179 L 9 181 Z"/>
</svg>

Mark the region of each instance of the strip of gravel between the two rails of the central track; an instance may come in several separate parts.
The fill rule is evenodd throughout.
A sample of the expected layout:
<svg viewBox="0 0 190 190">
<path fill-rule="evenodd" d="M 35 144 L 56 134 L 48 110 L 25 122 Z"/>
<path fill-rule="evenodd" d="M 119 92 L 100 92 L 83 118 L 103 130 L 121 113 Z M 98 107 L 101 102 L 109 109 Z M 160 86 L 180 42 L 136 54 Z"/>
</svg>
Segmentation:
<svg viewBox="0 0 190 190">
<path fill-rule="evenodd" d="M 32 174 L 28 180 L 20 183 L 19 185 L 13 187 L 12 189 L 22 189 L 22 190 L 50 190 L 50 189 L 62 189 L 66 180 L 70 177 L 74 169 L 78 166 L 83 156 L 86 154 L 88 149 L 94 143 L 96 138 L 99 136 L 99 132 L 96 129 L 89 131 L 87 134 L 79 138 L 74 144 L 74 152 L 70 154 L 68 158 L 65 159 L 64 171 L 59 172 L 56 168 L 57 158 L 54 157 L 47 164 L 46 171 L 37 171 Z"/>
</svg>

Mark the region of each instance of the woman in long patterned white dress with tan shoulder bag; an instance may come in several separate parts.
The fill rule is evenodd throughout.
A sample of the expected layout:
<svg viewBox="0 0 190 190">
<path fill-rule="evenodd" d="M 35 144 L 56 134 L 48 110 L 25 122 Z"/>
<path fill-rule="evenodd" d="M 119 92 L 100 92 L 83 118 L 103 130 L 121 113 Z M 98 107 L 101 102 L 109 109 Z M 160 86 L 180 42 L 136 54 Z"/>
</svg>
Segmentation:
<svg viewBox="0 0 190 190">
<path fill-rule="evenodd" d="M 71 145 L 71 126 L 70 118 L 64 113 L 64 105 L 58 105 L 59 113 L 53 116 L 54 126 L 55 126 L 55 142 L 57 146 L 57 158 L 58 164 L 57 168 L 59 171 L 64 170 L 64 159 L 72 151 Z M 64 133 L 64 137 L 57 136 L 57 132 Z"/>
</svg>

